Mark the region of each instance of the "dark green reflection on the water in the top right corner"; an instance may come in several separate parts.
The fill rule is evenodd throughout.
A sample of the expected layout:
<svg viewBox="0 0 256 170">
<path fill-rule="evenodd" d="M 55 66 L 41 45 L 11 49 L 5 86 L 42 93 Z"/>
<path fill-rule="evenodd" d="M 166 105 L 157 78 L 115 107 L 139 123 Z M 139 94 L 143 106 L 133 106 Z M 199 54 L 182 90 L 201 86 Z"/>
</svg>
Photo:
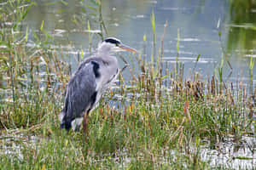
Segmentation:
<svg viewBox="0 0 256 170">
<path fill-rule="evenodd" d="M 227 50 L 236 57 L 256 54 L 256 3 L 233 1 L 230 3 L 230 22 L 227 25 Z M 254 55 L 253 55 L 254 54 Z"/>
</svg>

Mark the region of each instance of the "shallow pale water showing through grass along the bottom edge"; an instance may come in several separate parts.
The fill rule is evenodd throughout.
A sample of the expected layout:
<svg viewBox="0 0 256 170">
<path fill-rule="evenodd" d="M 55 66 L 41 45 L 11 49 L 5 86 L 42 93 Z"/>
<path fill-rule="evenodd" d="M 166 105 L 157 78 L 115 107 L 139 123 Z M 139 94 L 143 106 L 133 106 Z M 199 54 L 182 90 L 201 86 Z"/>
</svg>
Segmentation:
<svg viewBox="0 0 256 170">
<path fill-rule="evenodd" d="M 0 156 L 2 154 L 10 156 L 10 158 L 16 156 L 20 161 L 24 161 L 24 155 L 20 151 L 24 145 L 31 148 L 40 148 L 42 147 L 42 142 L 44 143 L 49 142 L 49 140 L 53 140 L 43 138 L 40 139 L 37 136 L 27 136 L 24 134 L 2 136 L 0 139 L 3 142 L 3 146 L 0 146 Z M 225 167 L 232 169 L 253 169 L 256 166 L 256 154 L 253 152 L 253 148 L 255 147 L 254 139 L 252 137 L 242 137 L 239 144 L 234 143 L 233 139 L 234 137 L 230 136 L 229 138 L 225 139 L 224 143 L 217 144 L 217 150 L 210 150 L 209 144 L 202 145 L 200 148 L 195 148 L 195 146 L 191 145 L 189 146 L 190 156 L 196 155 L 196 152 L 200 152 L 201 161 L 206 161 L 212 167 L 216 168 Z M 170 158 L 168 154 L 172 155 L 172 158 Z M 177 151 L 165 149 L 162 150 L 160 155 L 155 157 L 157 160 L 155 161 L 159 164 L 170 164 L 172 161 L 177 160 L 177 156 L 183 155 L 186 155 L 186 153 L 177 155 Z M 96 163 L 98 161 L 109 161 L 106 160 L 106 158 L 100 158 L 99 160 L 97 156 L 96 158 L 94 158 L 94 156 L 96 156 L 94 153 L 90 154 L 90 161 L 92 163 Z M 119 165 L 119 168 L 128 167 L 131 161 L 136 160 L 136 158 L 129 155 L 129 152 L 126 149 L 116 150 L 114 156 L 113 153 L 104 154 L 104 157 L 108 157 L 107 159 L 113 160 Z M 191 158 L 191 160 L 192 159 L 193 158 Z M 185 162 L 180 163 L 184 163 L 185 165 Z"/>
</svg>

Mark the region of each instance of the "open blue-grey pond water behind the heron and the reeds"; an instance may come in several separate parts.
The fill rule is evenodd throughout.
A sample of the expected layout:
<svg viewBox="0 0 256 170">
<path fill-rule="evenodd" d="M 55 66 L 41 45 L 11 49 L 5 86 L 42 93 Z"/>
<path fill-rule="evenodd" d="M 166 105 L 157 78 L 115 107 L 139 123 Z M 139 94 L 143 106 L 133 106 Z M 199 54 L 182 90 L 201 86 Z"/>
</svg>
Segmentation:
<svg viewBox="0 0 256 170">
<path fill-rule="evenodd" d="M 43 2 L 38 1 L 38 6 L 32 8 L 27 15 L 26 22 L 29 29 L 38 30 L 44 20 L 44 29 L 54 36 L 56 44 L 69 51 L 74 71 L 77 67 L 74 58 L 79 51 L 83 49 L 86 55 L 90 54 L 89 38 L 93 39 L 92 46 L 96 48 L 96 42 L 99 40 L 96 33 L 100 32 L 96 24 L 97 12 L 84 7 L 84 3 L 79 1 L 69 0 L 68 5 L 64 3 L 49 5 Z M 94 6 L 94 4 L 90 5 Z M 230 10 L 231 7 L 235 9 Z M 86 8 L 86 13 L 82 8 Z M 196 58 L 200 54 L 195 71 L 199 71 L 204 77 L 211 77 L 214 69 L 218 72 L 223 57 L 224 81 L 244 83 L 250 81 L 249 59 L 256 56 L 256 29 L 253 25 L 256 18 L 255 8 L 249 8 L 247 13 L 238 14 L 236 4 L 229 4 L 228 1 L 223 0 L 102 1 L 102 16 L 108 36 L 118 37 L 122 42 L 143 52 L 145 35 L 148 59 L 153 49 L 150 22 L 152 11 L 155 16 L 156 53 L 160 48 L 160 39 L 167 21 L 163 57 L 164 61 L 170 64 L 171 69 L 176 62 L 177 31 L 179 31 L 178 60 L 184 64 L 186 78 L 189 78 L 190 68 L 195 67 Z M 74 24 L 74 19 L 79 20 L 79 25 Z M 88 20 L 90 31 L 88 31 Z M 126 59 L 129 60 L 127 57 Z M 119 65 L 120 67 L 125 65 L 121 59 Z M 255 67 L 253 75 L 256 75 Z"/>
</svg>

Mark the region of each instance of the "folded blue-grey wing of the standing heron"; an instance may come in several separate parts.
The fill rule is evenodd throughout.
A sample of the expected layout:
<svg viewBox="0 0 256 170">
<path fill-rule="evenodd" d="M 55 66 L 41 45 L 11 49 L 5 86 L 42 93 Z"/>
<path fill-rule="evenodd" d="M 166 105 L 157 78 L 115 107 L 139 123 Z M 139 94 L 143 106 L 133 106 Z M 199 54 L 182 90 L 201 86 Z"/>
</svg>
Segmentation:
<svg viewBox="0 0 256 170">
<path fill-rule="evenodd" d="M 91 62 L 82 63 L 68 82 L 64 107 L 68 122 L 83 116 L 83 112 L 90 110 L 96 101 L 96 75 L 93 69 Z"/>
</svg>

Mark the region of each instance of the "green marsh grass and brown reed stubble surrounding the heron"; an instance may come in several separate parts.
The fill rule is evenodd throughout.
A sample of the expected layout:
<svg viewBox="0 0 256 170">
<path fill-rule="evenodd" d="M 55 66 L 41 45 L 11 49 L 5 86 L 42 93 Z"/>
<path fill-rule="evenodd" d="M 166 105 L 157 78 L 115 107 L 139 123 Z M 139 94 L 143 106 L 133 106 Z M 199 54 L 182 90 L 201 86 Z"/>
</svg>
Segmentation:
<svg viewBox="0 0 256 170">
<path fill-rule="evenodd" d="M 30 6 L 10 13 L 26 3 L 17 2 L 1 7 L 1 22 L 22 24 Z M 121 74 L 119 88 L 90 113 L 89 133 L 61 131 L 71 66 L 49 48 L 43 25 L 44 36 L 33 32 L 33 48 L 22 39 L 27 31 L 13 33 L 19 25 L 0 26 L 0 169 L 231 169 L 201 159 L 205 141 L 217 150 L 230 136 L 237 144 L 255 137 L 253 86 L 247 95 L 242 84 L 235 90 L 222 77 L 193 73 L 183 80 L 181 64 L 163 71 L 164 63 L 154 67 L 154 59 L 137 55 L 127 68 L 131 80 Z"/>
</svg>

